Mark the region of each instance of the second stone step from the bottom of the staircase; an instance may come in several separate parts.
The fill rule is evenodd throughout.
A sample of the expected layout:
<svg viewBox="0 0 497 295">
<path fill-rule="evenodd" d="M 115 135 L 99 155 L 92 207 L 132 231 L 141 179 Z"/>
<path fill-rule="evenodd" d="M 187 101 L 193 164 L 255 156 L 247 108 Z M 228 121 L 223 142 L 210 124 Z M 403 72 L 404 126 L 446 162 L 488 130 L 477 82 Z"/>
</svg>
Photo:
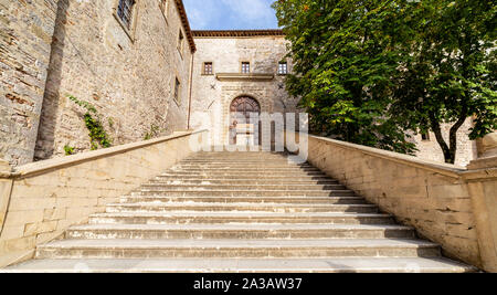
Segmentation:
<svg viewBox="0 0 497 295">
<path fill-rule="evenodd" d="M 38 247 L 36 259 L 162 257 L 438 257 L 421 240 L 61 240 Z"/>
</svg>

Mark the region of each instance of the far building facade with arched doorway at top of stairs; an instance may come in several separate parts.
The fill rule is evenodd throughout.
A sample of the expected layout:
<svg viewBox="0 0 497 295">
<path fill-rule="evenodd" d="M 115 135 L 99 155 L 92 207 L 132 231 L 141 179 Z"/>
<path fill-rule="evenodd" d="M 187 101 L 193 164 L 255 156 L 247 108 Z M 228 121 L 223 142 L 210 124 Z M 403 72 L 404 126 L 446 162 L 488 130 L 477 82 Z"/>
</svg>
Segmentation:
<svg viewBox="0 0 497 295">
<path fill-rule="evenodd" d="M 190 127 L 210 129 L 212 145 L 258 144 L 262 129 L 271 126 L 250 124 L 250 113 L 297 112 L 298 101 L 285 91 L 292 61 L 282 31 L 194 31 L 193 36 L 198 51 Z"/>
</svg>

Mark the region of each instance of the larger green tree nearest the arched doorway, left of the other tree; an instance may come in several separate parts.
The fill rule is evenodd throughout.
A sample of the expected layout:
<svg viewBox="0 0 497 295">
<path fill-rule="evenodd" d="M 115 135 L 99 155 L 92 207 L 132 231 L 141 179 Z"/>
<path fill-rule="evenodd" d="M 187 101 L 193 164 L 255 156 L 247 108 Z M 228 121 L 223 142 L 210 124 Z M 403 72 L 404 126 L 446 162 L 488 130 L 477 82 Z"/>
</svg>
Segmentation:
<svg viewBox="0 0 497 295">
<path fill-rule="evenodd" d="M 403 56 L 395 44 L 405 1 L 279 0 L 273 7 L 292 41 L 289 94 L 302 97 L 313 133 L 399 152 L 413 152 L 392 104 Z"/>
</svg>

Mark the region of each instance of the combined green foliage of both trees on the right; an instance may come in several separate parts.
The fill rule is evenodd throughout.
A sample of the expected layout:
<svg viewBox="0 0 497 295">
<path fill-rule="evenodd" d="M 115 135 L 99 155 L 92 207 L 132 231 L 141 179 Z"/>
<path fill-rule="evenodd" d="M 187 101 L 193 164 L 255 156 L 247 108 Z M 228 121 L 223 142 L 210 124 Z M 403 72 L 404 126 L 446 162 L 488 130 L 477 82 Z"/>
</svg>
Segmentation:
<svg viewBox="0 0 497 295">
<path fill-rule="evenodd" d="M 287 89 L 302 97 L 300 104 L 310 115 L 311 131 L 356 144 L 411 154 L 415 148 L 408 130 L 434 129 L 436 134 L 433 122 L 438 125 L 457 122 L 461 115 L 466 118 L 477 112 L 472 138 L 480 137 L 495 128 L 495 73 L 490 72 L 488 59 L 491 51 L 485 51 L 495 41 L 490 33 L 495 4 L 485 3 L 480 0 L 276 1 L 273 7 L 279 24 L 292 41 L 294 73 L 287 78 Z M 458 11 L 463 7 L 466 12 Z M 476 21 L 482 17 L 478 13 L 485 13 L 480 22 Z M 464 25 L 469 27 L 464 29 Z M 473 31 L 475 25 L 478 30 Z M 452 33 L 444 34 L 447 30 Z M 470 31 L 470 36 L 461 39 L 459 34 L 466 31 Z M 447 54 L 452 56 L 463 46 L 479 55 L 474 53 L 467 59 L 463 51 L 450 61 L 472 64 L 472 73 L 479 74 L 474 74 L 474 78 L 467 76 L 470 83 L 447 80 L 440 74 L 447 67 Z M 433 63 L 435 56 L 440 65 Z M 466 74 L 459 67 L 454 69 L 458 77 Z M 433 87 L 427 87 L 429 81 Z M 472 91 L 466 91 L 468 87 Z M 464 97 L 474 103 L 463 109 L 463 95 L 457 96 L 456 92 L 465 93 Z M 422 93 L 427 96 L 420 96 Z M 430 116 L 435 119 L 430 120 Z"/>
</svg>

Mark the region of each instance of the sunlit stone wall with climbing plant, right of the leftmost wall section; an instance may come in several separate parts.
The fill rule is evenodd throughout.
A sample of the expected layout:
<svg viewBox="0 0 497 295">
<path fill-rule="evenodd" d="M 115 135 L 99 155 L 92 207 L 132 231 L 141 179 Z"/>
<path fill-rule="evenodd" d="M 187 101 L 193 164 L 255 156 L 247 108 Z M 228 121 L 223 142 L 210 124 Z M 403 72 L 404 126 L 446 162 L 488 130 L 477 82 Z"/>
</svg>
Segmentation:
<svg viewBox="0 0 497 295">
<path fill-rule="evenodd" d="M 115 17 L 117 0 L 59 1 L 50 71 L 36 143 L 36 159 L 91 148 L 84 109 L 74 95 L 96 106 L 115 146 L 138 141 L 150 129 L 184 129 L 191 51 L 176 1 L 166 15 L 159 0 L 138 0 L 129 31 Z M 181 82 L 173 99 L 176 77 Z"/>
</svg>

